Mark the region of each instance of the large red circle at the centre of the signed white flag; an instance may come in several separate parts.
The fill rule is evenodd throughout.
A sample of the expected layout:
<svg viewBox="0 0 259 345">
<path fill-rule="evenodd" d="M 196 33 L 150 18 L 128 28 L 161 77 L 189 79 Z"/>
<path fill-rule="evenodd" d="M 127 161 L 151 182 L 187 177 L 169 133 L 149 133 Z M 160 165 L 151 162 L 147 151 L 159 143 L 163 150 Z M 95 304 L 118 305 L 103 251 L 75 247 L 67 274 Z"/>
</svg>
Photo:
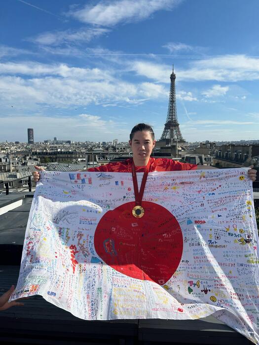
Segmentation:
<svg viewBox="0 0 259 345">
<path fill-rule="evenodd" d="M 163 285 L 182 258 L 181 227 L 165 207 L 143 201 L 145 214 L 135 218 L 134 206 L 126 203 L 103 215 L 94 235 L 95 250 L 114 270 Z"/>
</svg>

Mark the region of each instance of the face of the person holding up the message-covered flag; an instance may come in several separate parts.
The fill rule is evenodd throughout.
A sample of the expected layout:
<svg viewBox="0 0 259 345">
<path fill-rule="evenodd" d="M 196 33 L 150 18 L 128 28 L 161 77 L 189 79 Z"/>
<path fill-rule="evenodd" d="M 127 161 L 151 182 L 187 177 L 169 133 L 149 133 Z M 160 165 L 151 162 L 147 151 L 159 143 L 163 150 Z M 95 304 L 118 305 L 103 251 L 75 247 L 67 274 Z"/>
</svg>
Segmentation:
<svg viewBox="0 0 259 345">
<path fill-rule="evenodd" d="M 129 140 L 132 149 L 134 161 L 138 165 L 145 165 L 148 161 L 152 149 L 155 146 L 155 140 L 152 139 L 150 132 L 138 131 L 134 133 L 132 140 Z"/>
</svg>

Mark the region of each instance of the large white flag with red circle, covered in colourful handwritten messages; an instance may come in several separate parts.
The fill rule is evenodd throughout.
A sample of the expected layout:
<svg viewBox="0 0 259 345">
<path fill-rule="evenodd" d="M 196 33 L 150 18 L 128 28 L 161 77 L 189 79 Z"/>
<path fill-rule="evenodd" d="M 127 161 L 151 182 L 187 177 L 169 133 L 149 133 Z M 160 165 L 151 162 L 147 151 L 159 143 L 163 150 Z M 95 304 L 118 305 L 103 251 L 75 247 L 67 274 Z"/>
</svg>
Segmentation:
<svg viewBox="0 0 259 345">
<path fill-rule="evenodd" d="M 143 173 L 137 173 L 140 186 Z M 247 170 L 41 173 L 11 299 L 87 320 L 213 314 L 259 344 L 258 233 Z"/>
</svg>

